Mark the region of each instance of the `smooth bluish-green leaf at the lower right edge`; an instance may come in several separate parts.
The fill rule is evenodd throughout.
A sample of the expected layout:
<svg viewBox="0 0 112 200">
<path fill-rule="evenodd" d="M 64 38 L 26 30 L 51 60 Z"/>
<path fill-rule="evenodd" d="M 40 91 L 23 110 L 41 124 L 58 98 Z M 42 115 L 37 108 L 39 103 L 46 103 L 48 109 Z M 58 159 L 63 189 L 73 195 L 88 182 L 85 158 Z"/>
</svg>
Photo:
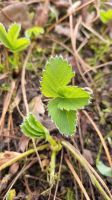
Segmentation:
<svg viewBox="0 0 112 200">
<path fill-rule="evenodd" d="M 98 161 L 96 167 L 103 176 L 112 177 L 112 168 L 106 166 L 102 161 Z"/>
</svg>

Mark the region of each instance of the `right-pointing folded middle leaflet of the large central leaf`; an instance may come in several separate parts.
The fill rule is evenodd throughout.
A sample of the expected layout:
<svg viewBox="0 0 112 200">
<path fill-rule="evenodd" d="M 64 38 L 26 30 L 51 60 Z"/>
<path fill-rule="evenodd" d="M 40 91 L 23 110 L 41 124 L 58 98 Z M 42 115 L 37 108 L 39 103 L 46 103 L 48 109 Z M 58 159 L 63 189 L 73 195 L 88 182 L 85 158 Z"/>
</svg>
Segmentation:
<svg viewBox="0 0 112 200">
<path fill-rule="evenodd" d="M 58 108 L 65 110 L 77 110 L 90 102 L 90 93 L 83 88 L 64 86 L 58 90 L 62 98 L 57 98 Z"/>
</svg>

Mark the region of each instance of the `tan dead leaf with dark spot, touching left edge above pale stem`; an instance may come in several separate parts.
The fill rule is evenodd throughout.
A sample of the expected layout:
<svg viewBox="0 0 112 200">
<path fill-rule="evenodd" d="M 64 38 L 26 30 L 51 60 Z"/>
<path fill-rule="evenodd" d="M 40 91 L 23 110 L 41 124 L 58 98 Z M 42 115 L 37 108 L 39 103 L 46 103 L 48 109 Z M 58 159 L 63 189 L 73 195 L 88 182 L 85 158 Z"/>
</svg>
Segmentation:
<svg viewBox="0 0 112 200">
<path fill-rule="evenodd" d="M 5 151 L 4 153 L 0 153 L 0 166 L 2 166 L 4 163 L 9 162 L 10 160 L 16 158 L 19 155 L 20 155 L 20 153 L 17 153 L 14 151 Z"/>
</svg>

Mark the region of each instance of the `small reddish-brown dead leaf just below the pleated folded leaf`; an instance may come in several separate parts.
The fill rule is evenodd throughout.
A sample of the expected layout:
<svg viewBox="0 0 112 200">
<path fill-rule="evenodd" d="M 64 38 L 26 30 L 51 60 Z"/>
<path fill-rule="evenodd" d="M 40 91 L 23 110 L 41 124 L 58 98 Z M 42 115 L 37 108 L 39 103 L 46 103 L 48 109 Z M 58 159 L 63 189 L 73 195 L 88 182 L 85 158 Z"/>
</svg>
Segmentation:
<svg viewBox="0 0 112 200">
<path fill-rule="evenodd" d="M 19 151 L 24 152 L 28 147 L 28 143 L 29 143 L 29 138 L 26 137 L 25 135 L 22 135 L 19 141 Z"/>
</svg>

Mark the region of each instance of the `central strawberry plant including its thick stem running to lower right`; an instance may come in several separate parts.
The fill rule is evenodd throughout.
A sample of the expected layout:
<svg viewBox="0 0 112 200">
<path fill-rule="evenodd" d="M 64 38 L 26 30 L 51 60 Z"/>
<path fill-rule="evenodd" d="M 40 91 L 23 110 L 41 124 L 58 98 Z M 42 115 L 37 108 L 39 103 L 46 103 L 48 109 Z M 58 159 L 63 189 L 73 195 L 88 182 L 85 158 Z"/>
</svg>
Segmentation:
<svg viewBox="0 0 112 200">
<path fill-rule="evenodd" d="M 48 114 L 59 129 L 59 133 L 62 133 L 64 136 L 75 134 L 78 110 L 83 109 L 90 102 L 91 98 L 90 92 L 86 91 L 86 89 L 68 85 L 74 75 L 71 65 L 62 57 L 56 56 L 48 60 L 41 80 L 41 92 L 49 98 Z M 50 186 L 55 183 L 56 155 L 62 147 L 65 147 L 86 170 L 92 184 L 99 190 L 104 199 L 111 200 L 111 194 L 103 180 L 99 178 L 96 171 L 72 144 L 64 139 L 60 141 L 59 139 L 54 139 L 49 131 L 31 113 L 25 117 L 21 130 L 27 137 L 33 139 L 42 138 L 50 144 L 52 150 Z M 85 197 L 90 200 L 89 196 L 87 198 L 85 195 Z"/>
</svg>

